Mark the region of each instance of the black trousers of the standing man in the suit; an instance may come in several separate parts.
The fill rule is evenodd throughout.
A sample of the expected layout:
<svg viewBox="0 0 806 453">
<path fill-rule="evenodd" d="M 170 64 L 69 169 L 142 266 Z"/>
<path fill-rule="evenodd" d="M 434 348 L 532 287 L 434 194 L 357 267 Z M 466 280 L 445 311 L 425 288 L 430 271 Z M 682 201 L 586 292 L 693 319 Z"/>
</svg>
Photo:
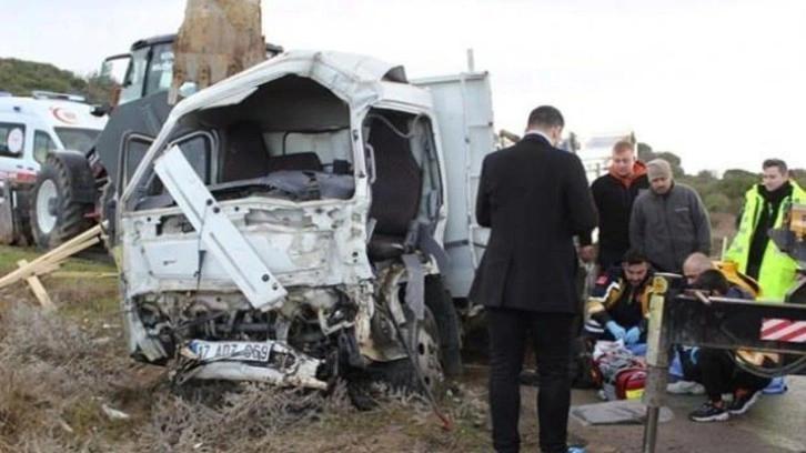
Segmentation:
<svg viewBox="0 0 806 453">
<path fill-rule="evenodd" d="M 521 385 L 526 341 L 532 340 L 538 371 L 537 419 L 541 451 L 567 451 L 571 406 L 571 340 L 573 314 L 487 308 L 490 330 L 490 409 L 493 447 L 517 452 L 521 435 Z"/>
</svg>

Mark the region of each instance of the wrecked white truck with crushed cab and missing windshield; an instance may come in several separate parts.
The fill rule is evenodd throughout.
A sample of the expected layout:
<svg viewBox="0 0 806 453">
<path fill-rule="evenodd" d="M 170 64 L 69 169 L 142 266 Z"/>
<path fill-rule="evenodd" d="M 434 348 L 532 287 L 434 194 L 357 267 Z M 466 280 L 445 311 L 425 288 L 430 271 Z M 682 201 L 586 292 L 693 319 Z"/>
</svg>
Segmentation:
<svg viewBox="0 0 806 453">
<path fill-rule="evenodd" d="M 182 100 L 157 137 L 122 141 L 110 231 L 130 353 L 180 382 L 437 387 L 477 312 L 494 140 L 486 73 L 409 81 L 336 52 Z"/>
</svg>

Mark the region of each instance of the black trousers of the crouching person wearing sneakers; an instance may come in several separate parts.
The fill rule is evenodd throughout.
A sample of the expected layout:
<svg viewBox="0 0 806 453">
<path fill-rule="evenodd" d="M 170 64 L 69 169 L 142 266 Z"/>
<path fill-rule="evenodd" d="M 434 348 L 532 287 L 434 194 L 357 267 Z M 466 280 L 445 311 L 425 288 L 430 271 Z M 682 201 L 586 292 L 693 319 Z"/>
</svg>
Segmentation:
<svg viewBox="0 0 806 453">
<path fill-rule="evenodd" d="M 736 389 L 755 392 L 769 385 L 772 380 L 739 369 L 727 354 L 733 354 L 733 351 L 699 350 L 697 365 L 711 401 L 722 401 L 723 393 L 734 393 Z"/>
</svg>

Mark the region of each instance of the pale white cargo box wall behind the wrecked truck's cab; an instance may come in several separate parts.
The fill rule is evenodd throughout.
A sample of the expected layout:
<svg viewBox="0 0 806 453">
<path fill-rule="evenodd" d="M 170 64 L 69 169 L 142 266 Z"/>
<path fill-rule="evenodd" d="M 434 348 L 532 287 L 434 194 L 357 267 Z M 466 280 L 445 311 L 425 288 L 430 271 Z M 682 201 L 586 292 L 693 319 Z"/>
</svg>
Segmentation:
<svg viewBox="0 0 806 453">
<path fill-rule="evenodd" d="M 490 235 L 475 219 L 482 161 L 495 150 L 490 74 L 464 72 L 411 83 L 431 92 L 440 123 L 449 210 L 443 246 L 451 258 L 442 272 L 451 294 L 466 298 Z"/>
</svg>

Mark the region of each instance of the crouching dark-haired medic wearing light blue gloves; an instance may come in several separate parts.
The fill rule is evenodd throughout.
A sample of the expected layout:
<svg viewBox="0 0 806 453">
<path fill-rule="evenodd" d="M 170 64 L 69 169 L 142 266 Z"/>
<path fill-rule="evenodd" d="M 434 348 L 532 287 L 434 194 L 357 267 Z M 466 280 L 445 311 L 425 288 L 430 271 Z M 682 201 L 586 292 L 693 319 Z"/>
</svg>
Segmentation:
<svg viewBox="0 0 806 453">
<path fill-rule="evenodd" d="M 646 256 L 627 251 L 621 265 L 596 280 L 586 305 L 584 336 L 623 340 L 627 345 L 645 343 L 653 274 Z"/>
</svg>

